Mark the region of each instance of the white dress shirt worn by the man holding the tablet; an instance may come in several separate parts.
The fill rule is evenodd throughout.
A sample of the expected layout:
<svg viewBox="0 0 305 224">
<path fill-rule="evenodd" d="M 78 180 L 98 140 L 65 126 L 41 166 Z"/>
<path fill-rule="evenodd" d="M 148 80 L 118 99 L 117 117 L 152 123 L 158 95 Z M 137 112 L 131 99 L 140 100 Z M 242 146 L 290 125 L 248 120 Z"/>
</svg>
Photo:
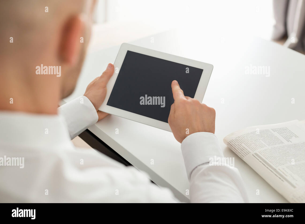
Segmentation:
<svg viewBox="0 0 305 224">
<path fill-rule="evenodd" d="M 97 120 L 85 96 L 59 107 L 59 115 L 0 112 L 0 202 L 177 202 L 144 172 L 74 147 L 71 138 Z M 236 168 L 209 165 L 223 157 L 214 134 L 191 134 L 181 150 L 191 202 L 248 202 Z"/>
</svg>

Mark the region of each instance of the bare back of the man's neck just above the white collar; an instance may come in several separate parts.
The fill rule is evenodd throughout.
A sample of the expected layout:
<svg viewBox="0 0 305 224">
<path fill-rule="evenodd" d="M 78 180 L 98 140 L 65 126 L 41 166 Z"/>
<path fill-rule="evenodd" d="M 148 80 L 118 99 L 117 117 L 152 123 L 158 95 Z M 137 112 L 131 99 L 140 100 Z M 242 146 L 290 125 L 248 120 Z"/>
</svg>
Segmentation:
<svg viewBox="0 0 305 224">
<path fill-rule="evenodd" d="M 6 74 L 0 77 L 0 110 L 57 114 L 60 84 L 56 77 Z"/>
</svg>

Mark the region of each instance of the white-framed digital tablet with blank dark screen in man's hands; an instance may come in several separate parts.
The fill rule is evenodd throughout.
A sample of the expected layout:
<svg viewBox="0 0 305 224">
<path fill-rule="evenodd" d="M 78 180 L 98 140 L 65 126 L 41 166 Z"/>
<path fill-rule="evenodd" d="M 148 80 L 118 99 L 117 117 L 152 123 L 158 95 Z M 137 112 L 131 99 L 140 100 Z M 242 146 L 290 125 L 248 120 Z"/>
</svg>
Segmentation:
<svg viewBox="0 0 305 224">
<path fill-rule="evenodd" d="M 99 110 L 171 131 L 172 81 L 202 102 L 212 70 L 211 64 L 123 43 Z"/>
</svg>

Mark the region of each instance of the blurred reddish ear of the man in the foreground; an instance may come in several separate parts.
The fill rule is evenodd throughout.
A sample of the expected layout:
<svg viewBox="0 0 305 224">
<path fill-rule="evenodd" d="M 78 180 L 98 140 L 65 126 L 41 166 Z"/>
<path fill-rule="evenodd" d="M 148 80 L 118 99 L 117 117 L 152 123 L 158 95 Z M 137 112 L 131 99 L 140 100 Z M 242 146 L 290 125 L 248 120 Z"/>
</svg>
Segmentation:
<svg viewBox="0 0 305 224">
<path fill-rule="evenodd" d="M 80 56 L 80 38 L 83 29 L 84 22 L 81 19 L 81 15 L 71 17 L 63 28 L 59 54 L 60 59 L 70 66 L 75 65 Z"/>
</svg>

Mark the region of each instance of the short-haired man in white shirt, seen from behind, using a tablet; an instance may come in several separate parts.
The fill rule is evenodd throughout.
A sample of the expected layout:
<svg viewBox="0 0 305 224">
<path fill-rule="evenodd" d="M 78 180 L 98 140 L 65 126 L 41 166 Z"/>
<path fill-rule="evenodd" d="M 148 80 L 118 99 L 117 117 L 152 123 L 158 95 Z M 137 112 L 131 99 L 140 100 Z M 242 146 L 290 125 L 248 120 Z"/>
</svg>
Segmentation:
<svg viewBox="0 0 305 224">
<path fill-rule="evenodd" d="M 90 38 L 94 4 L 0 3 L 0 176 L 5 180 L 0 183 L 1 202 L 178 201 L 135 168 L 77 149 L 70 141 L 107 116 L 98 108 L 114 73 L 112 64 L 83 96 L 57 108 L 76 85 L 88 43 L 80 43 L 80 38 Z M 56 74 L 44 74 L 41 64 L 61 67 L 54 67 Z M 171 88 L 174 104 L 168 122 L 181 143 L 191 202 L 247 202 L 236 168 L 209 165 L 210 157 L 223 156 L 214 135 L 214 109 L 184 96 L 175 80 Z"/>
</svg>

